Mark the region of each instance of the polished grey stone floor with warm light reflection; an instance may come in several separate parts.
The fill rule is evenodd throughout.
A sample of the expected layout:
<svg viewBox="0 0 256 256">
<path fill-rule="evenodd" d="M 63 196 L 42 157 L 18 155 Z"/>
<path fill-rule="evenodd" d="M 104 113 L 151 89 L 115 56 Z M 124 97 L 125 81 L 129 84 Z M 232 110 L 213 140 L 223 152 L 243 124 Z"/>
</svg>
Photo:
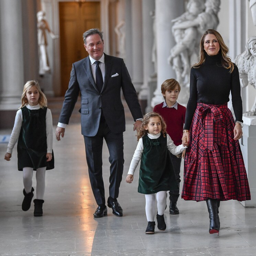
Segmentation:
<svg viewBox="0 0 256 256">
<path fill-rule="evenodd" d="M 54 130 L 58 110 L 52 109 Z M 55 169 L 46 173 L 44 214 L 33 216 L 33 205 L 21 210 L 22 172 L 17 171 L 16 147 L 10 162 L 3 160 L 7 144 L 0 144 L 0 255 L 25 256 L 254 256 L 256 208 L 237 201 L 222 202 L 220 235 L 210 235 L 205 202 L 179 199 L 179 215 L 165 211 L 167 229 L 146 235 L 145 198 L 125 177 L 137 141 L 127 111 L 124 133 L 125 167 L 118 198 L 123 217 L 108 208 L 108 216 L 93 219 L 97 208 L 90 188 L 84 140 L 79 118 L 67 127 L 65 137 L 54 141 Z M 11 130 L 0 130 L 9 134 Z M 108 197 L 109 163 L 104 144 L 103 172 Z M 35 175 L 33 187 L 36 187 Z M 169 203 L 169 201 L 168 201 Z"/>
</svg>

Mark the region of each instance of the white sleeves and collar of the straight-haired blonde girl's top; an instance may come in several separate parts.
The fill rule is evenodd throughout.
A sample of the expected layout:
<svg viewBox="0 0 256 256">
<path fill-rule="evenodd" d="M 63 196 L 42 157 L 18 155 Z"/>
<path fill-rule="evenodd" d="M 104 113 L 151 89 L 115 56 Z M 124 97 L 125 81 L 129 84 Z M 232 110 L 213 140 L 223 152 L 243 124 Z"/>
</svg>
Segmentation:
<svg viewBox="0 0 256 256">
<path fill-rule="evenodd" d="M 37 104 L 36 106 L 26 105 L 28 109 L 35 110 L 40 109 L 42 106 L 40 104 Z M 22 110 L 19 109 L 15 116 L 15 121 L 12 129 L 12 133 L 10 136 L 10 140 L 7 146 L 7 153 L 12 154 L 12 149 L 16 142 L 18 141 L 18 138 L 20 136 L 20 130 L 22 126 Z M 47 108 L 46 111 L 46 141 L 47 141 L 47 153 L 52 153 L 53 150 L 53 119 L 52 119 L 52 112 Z"/>
</svg>

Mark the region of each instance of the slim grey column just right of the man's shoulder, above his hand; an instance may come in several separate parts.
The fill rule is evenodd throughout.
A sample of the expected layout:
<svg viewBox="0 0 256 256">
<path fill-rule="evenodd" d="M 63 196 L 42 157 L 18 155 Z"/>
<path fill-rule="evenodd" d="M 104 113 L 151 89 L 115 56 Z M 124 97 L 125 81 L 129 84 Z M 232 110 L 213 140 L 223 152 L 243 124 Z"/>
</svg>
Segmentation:
<svg viewBox="0 0 256 256">
<path fill-rule="evenodd" d="M 143 51 L 142 51 L 142 0 L 132 0 L 132 69 L 133 85 L 140 91 L 143 81 Z"/>
</svg>

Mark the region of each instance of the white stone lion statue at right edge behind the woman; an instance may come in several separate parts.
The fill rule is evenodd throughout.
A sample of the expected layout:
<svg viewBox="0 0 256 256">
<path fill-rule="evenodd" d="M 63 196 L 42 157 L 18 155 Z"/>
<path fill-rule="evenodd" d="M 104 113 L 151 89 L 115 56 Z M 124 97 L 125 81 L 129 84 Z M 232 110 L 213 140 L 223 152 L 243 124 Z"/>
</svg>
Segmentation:
<svg viewBox="0 0 256 256">
<path fill-rule="evenodd" d="M 235 64 L 238 67 L 241 86 L 246 87 L 251 84 L 256 89 L 256 36 L 248 38 L 245 51 L 236 56 Z M 251 110 L 243 115 L 256 115 L 256 98 Z"/>
</svg>

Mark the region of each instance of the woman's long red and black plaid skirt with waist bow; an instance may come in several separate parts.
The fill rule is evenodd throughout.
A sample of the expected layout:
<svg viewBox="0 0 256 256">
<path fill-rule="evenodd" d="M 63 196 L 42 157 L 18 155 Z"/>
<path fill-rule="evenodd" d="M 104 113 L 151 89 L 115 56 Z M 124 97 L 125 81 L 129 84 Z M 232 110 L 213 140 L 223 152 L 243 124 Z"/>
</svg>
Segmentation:
<svg viewBox="0 0 256 256">
<path fill-rule="evenodd" d="M 181 198 L 251 199 L 240 144 L 234 140 L 234 126 L 227 104 L 197 103 L 184 160 Z"/>
</svg>

